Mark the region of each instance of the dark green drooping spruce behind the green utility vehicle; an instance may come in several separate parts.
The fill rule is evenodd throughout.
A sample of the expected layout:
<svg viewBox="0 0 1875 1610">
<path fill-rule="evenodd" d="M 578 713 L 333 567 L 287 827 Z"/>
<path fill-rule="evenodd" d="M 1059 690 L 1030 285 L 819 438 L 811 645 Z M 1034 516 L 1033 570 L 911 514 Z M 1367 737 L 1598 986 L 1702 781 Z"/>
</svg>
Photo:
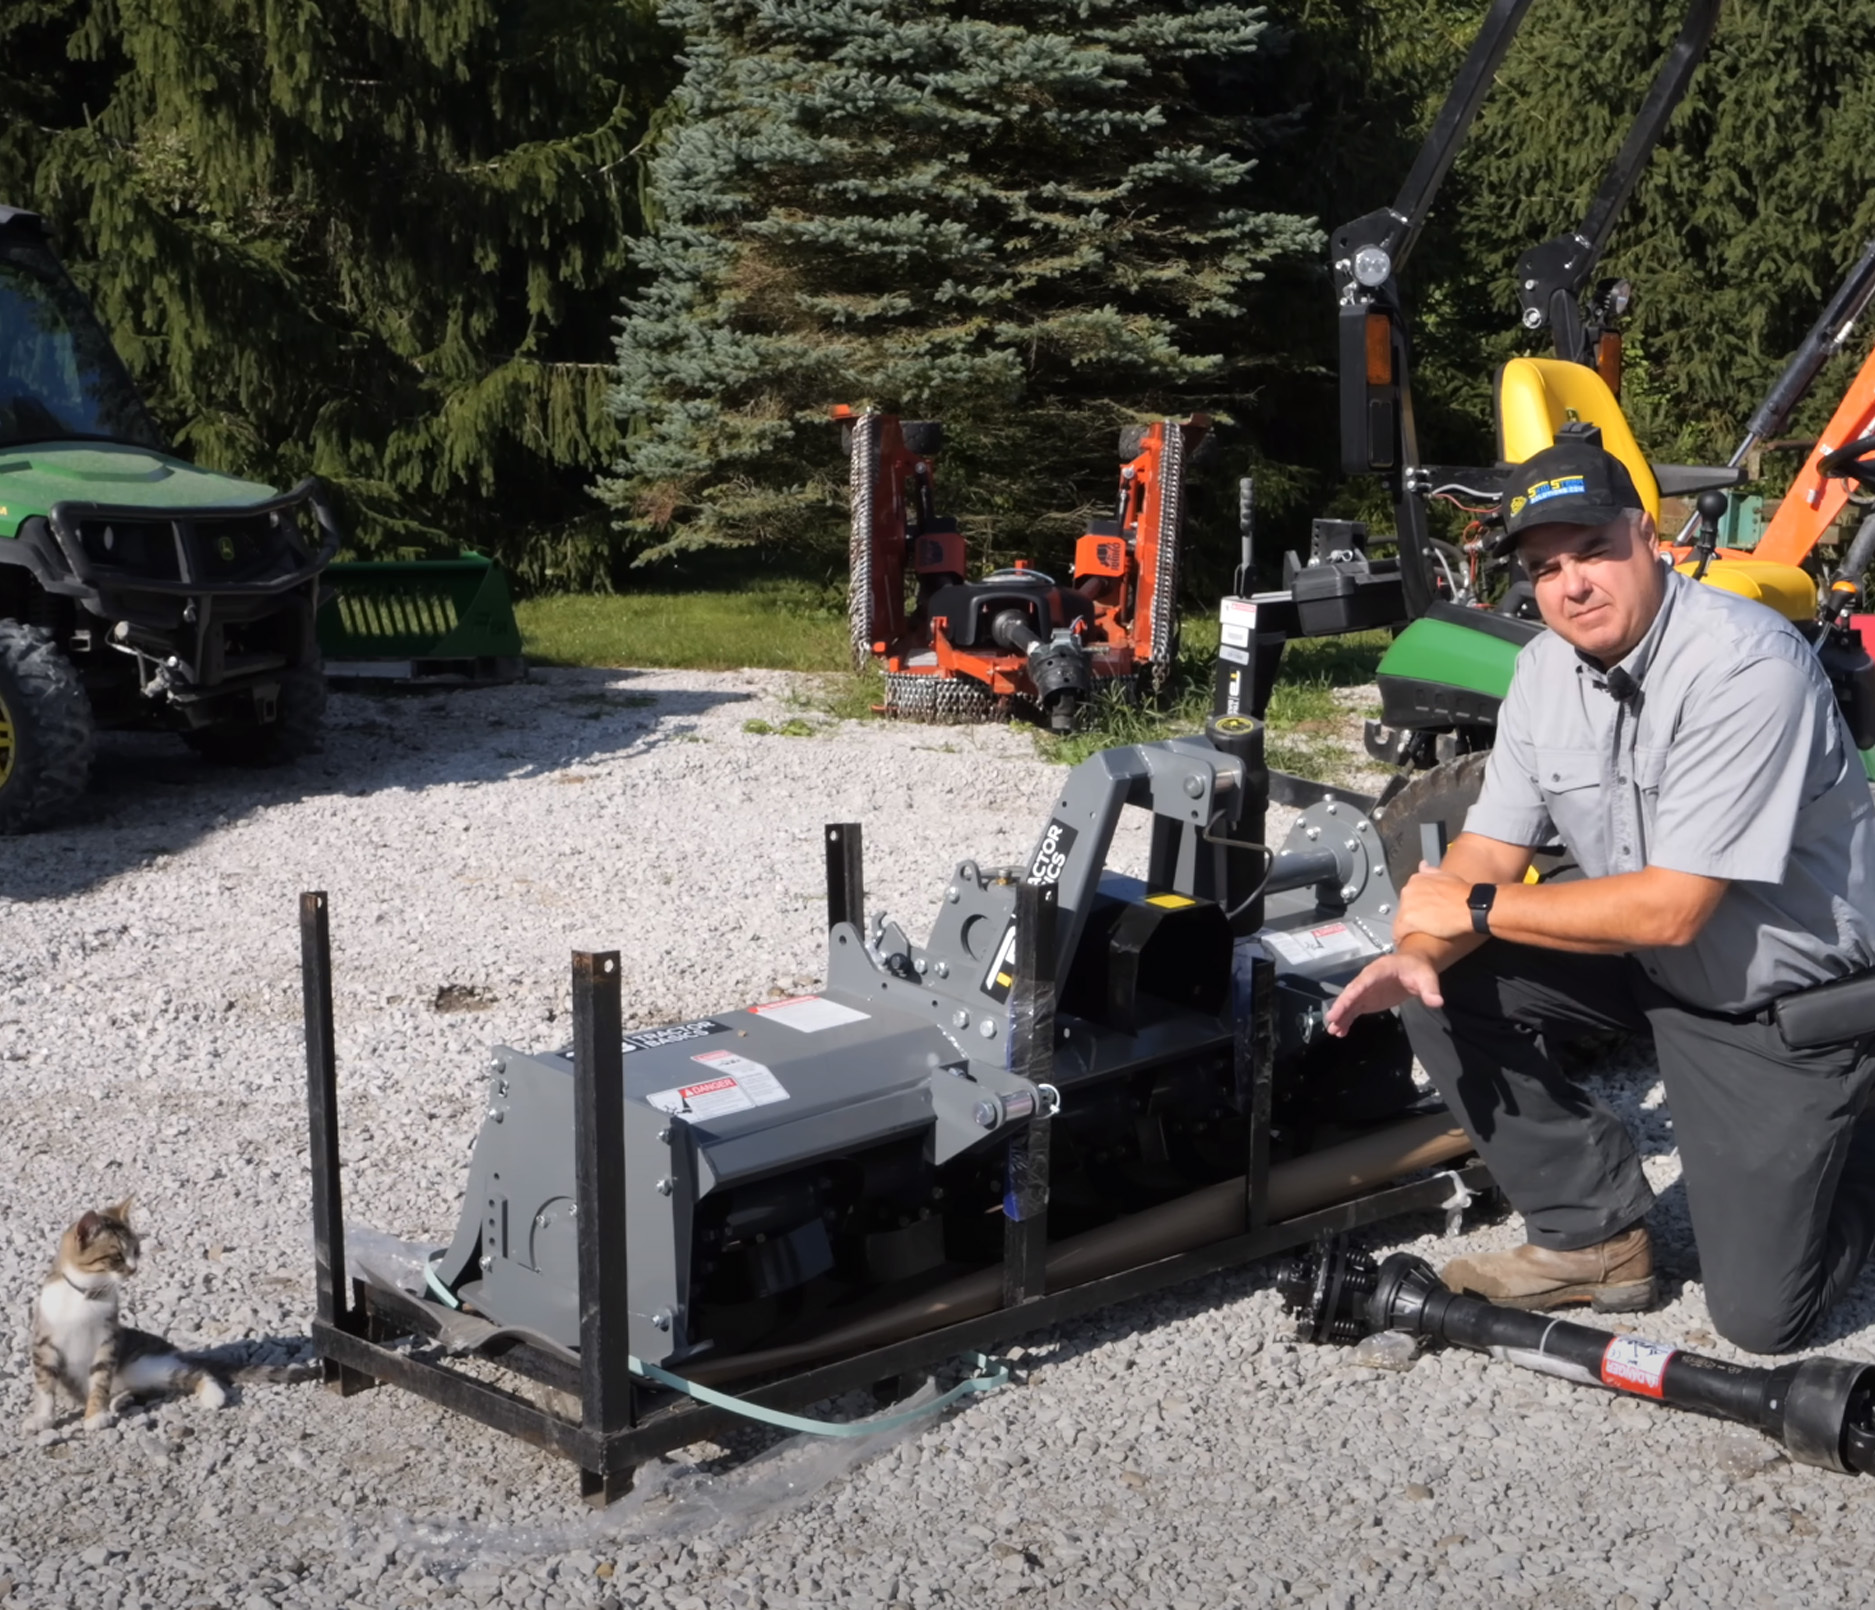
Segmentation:
<svg viewBox="0 0 1875 1610">
<path fill-rule="evenodd" d="M 9 0 L 0 64 L 0 199 L 184 450 L 364 551 L 604 568 L 649 0 Z"/>
</svg>

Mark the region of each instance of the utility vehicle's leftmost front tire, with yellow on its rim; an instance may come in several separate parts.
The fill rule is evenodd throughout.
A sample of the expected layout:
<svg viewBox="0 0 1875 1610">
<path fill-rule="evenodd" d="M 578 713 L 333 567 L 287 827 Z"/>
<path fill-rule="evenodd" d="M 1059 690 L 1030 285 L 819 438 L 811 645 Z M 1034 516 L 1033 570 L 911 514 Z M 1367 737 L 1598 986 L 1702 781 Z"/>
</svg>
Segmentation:
<svg viewBox="0 0 1875 1610">
<path fill-rule="evenodd" d="M 0 620 L 0 834 L 54 823 L 92 770 L 92 705 L 52 634 Z"/>
</svg>

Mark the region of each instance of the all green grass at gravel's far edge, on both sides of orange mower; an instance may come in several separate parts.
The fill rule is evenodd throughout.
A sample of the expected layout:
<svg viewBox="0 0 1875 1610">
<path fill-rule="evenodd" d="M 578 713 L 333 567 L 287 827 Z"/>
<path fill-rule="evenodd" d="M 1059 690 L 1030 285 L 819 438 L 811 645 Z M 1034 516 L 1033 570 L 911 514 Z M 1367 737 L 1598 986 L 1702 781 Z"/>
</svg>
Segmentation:
<svg viewBox="0 0 1875 1610">
<path fill-rule="evenodd" d="M 756 577 L 733 590 L 562 594 L 516 605 L 521 641 L 536 665 L 654 665 L 690 671 L 823 673 L 793 695 L 797 708 L 836 720 L 870 720 L 885 697 L 878 669 L 855 677 L 848 665 L 846 600 L 838 585 L 789 577 Z M 1391 639 L 1386 632 L 1299 639 L 1282 654 L 1282 675 L 1269 699 L 1268 755 L 1277 770 L 1339 782 L 1348 755 L 1339 740 L 1348 710 L 1337 688 L 1374 680 Z M 1178 675 L 1162 708 L 1104 699 L 1091 723 L 1058 738 L 1037 733 L 1041 752 L 1074 765 L 1114 744 L 1144 744 L 1192 733 L 1211 708 L 1217 622 L 1189 620 Z M 1367 714 L 1378 714 L 1369 710 Z M 806 737 L 814 722 L 750 722 L 746 731 Z"/>
</svg>

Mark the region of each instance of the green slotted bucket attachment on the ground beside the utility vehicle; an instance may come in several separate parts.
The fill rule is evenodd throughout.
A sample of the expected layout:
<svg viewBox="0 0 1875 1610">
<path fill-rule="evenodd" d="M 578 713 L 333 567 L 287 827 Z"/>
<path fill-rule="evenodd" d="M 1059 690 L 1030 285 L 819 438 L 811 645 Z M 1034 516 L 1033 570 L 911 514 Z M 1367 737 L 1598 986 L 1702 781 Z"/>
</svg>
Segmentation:
<svg viewBox="0 0 1875 1610">
<path fill-rule="evenodd" d="M 514 682 L 527 675 L 508 577 L 461 559 L 330 564 L 319 609 L 326 677 Z"/>
</svg>

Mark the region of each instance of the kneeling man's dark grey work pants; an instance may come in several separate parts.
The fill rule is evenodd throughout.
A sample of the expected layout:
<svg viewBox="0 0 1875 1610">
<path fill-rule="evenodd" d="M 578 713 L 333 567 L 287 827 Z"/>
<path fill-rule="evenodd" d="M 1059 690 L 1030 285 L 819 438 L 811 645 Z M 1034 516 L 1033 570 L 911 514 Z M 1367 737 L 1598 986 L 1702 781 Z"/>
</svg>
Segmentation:
<svg viewBox="0 0 1875 1610">
<path fill-rule="evenodd" d="M 1792 1051 L 1772 1023 L 1680 1006 L 1628 956 L 1492 939 L 1402 1008 L 1414 1051 L 1538 1246 L 1569 1252 L 1646 1216 L 1654 1192 L 1620 1121 L 1549 1051 L 1652 1029 L 1706 1308 L 1753 1353 L 1794 1348 L 1875 1243 L 1875 1046 Z"/>
</svg>

